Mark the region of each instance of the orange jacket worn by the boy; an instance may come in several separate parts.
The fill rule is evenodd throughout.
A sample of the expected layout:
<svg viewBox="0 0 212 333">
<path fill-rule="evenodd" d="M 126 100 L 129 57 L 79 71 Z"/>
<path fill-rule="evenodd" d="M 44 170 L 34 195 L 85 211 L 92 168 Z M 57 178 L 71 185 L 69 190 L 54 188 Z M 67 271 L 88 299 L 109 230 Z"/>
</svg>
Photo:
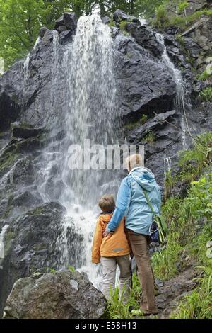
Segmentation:
<svg viewBox="0 0 212 333">
<path fill-rule="evenodd" d="M 100 256 L 126 256 L 126 254 L 130 254 L 129 244 L 124 232 L 124 219 L 112 236 L 103 237 L 103 231 L 111 218 L 112 214 L 101 214 L 98 218 L 93 237 L 93 264 L 100 262 Z"/>
</svg>

